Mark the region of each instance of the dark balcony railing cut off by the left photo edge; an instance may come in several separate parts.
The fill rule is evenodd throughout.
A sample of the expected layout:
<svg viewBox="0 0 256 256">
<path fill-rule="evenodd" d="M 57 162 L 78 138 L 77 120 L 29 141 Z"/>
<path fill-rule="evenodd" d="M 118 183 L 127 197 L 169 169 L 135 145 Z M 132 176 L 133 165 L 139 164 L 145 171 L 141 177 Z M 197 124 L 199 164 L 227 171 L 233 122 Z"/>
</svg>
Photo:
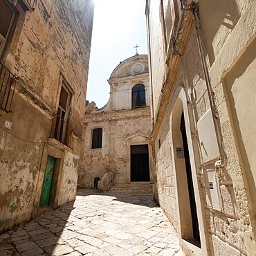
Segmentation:
<svg viewBox="0 0 256 256">
<path fill-rule="evenodd" d="M 11 111 L 17 76 L 0 63 L 0 109 Z"/>
</svg>

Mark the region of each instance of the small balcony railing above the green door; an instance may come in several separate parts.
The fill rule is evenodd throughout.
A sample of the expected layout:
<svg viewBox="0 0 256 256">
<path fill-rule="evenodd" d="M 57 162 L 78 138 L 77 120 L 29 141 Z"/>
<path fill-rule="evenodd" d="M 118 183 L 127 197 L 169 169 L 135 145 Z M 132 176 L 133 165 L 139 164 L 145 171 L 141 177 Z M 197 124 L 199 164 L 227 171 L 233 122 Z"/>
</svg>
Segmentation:
<svg viewBox="0 0 256 256">
<path fill-rule="evenodd" d="M 59 115 L 56 115 L 54 118 L 53 125 L 54 125 L 53 138 L 55 138 L 55 140 L 60 141 L 60 143 L 67 145 L 68 122 L 66 122 Z"/>
</svg>

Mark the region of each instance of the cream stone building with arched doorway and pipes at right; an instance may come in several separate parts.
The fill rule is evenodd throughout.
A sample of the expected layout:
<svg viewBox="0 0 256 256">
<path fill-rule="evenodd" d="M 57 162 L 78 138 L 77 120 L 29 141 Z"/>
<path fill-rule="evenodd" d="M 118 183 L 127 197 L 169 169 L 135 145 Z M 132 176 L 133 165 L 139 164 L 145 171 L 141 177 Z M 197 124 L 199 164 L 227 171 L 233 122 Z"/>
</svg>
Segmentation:
<svg viewBox="0 0 256 256">
<path fill-rule="evenodd" d="M 256 255 L 255 10 L 147 0 L 155 195 L 188 255 Z"/>
</svg>

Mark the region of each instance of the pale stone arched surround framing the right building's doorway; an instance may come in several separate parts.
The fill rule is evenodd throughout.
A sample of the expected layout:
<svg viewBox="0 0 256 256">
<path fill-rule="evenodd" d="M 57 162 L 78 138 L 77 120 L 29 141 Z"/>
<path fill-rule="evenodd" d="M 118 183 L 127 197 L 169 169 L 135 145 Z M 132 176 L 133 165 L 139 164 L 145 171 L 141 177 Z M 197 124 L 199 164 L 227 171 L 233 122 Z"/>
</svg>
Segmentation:
<svg viewBox="0 0 256 256">
<path fill-rule="evenodd" d="M 196 152 L 194 151 L 194 145 L 191 136 L 191 124 L 192 120 L 190 120 L 189 116 L 189 109 L 187 105 L 187 97 L 185 95 L 185 90 L 183 85 L 177 86 L 176 91 L 173 95 L 172 100 L 172 113 L 170 118 L 170 127 L 171 128 L 171 140 L 172 140 L 172 159 L 174 159 L 174 177 L 175 177 L 175 193 L 176 193 L 176 205 L 178 205 L 179 210 L 178 219 L 179 222 L 179 236 L 180 236 L 180 245 L 185 251 L 193 251 L 195 255 L 208 255 L 208 246 L 210 241 L 208 237 L 205 235 L 205 214 L 203 214 L 204 208 L 202 203 L 201 192 L 198 188 L 200 188 L 198 177 L 196 175 Z M 192 219 L 190 213 L 190 199 L 188 191 L 186 192 L 183 188 L 186 185 L 188 187 L 187 181 L 185 179 L 181 179 L 180 176 L 180 169 L 185 170 L 185 161 L 180 161 L 181 158 L 177 158 L 177 147 L 182 147 L 183 149 L 183 142 L 180 130 L 181 124 L 181 113 L 184 112 L 184 120 L 185 120 L 185 129 L 188 138 L 188 150 L 190 153 L 190 164 L 191 164 L 191 172 L 192 172 L 192 181 L 194 185 L 194 196 L 196 201 L 196 210 L 197 210 L 197 217 L 199 220 L 199 232 L 200 232 L 200 239 L 201 239 L 201 248 L 194 246 L 193 239 L 188 239 L 189 237 L 193 237 L 193 228 L 192 228 Z M 183 184 L 184 182 L 184 184 Z M 192 243 L 191 243 L 192 241 Z M 196 243 L 194 243 L 196 244 Z"/>
</svg>

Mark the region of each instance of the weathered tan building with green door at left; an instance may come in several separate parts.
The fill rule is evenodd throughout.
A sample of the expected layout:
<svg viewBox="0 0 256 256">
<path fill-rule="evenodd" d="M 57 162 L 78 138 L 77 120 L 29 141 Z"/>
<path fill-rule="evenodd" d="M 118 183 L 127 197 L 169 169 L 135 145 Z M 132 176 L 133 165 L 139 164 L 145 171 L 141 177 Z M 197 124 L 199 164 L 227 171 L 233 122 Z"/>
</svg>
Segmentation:
<svg viewBox="0 0 256 256">
<path fill-rule="evenodd" d="M 93 10 L 0 0 L 0 232 L 75 199 Z"/>
</svg>

